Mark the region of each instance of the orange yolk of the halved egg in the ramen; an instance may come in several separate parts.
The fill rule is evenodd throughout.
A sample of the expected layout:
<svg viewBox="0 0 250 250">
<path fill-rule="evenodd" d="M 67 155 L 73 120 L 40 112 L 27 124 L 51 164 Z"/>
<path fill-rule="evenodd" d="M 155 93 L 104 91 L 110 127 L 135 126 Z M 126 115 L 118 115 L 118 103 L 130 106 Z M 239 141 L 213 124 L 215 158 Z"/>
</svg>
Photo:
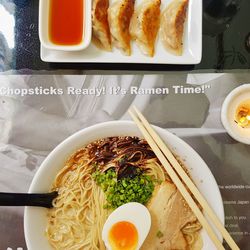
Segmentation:
<svg viewBox="0 0 250 250">
<path fill-rule="evenodd" d="M 114 224 L 108 237 L 112 250 L 134 250 L 138 244 L 137 229 L 127 221 Z"/>
</svg>

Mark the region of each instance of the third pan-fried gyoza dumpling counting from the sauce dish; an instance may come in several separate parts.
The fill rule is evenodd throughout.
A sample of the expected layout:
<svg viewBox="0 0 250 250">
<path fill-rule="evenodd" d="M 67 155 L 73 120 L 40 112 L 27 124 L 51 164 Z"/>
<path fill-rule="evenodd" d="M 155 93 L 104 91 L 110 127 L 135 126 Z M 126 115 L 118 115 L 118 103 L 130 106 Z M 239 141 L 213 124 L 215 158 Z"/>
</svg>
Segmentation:
<svg viewBox="0 0 250 250">
<path fill-rule="evenodd" d="M 134 12 L 130 34 L 142 53 L 154 56 L 155 40 L 160 27 L 161 0 L 146 0 Z"/>
</svg>

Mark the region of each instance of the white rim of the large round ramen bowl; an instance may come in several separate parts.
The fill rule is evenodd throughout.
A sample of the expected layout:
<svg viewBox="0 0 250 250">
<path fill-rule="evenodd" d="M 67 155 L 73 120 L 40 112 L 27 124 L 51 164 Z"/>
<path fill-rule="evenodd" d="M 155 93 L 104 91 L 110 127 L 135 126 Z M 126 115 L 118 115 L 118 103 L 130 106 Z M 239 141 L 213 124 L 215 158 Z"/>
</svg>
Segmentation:
<svg viewBox="0 0 250 250">
<path fill-rule="evenodd" d="M 201 157 L 184 141 L 170 132 L 155 127 L 162 139 L 169 145 L 170 149 L 185 159 L 185 164 L 199 190 L 211 204 L 212 208 L 224 223 L 224 210 L 222 198 L 206 163 Z M 110 136 L 139 136 L 142 137 L 137 126 L 130 121 L 114 121 L 101 123 L 83 129 L 58 145 L 45 159 L 35 174 L 29 192 L 49 192 L 50 187 L 58 171 L 64 166 L 67 158 L 77 149 L 86 146 L 88 143 Z M 45 236 L 47 224 L 47 209 L 26 207 L 24 214 L 25 239 L 29 250 L 50 250 L 52 249 Z M 215 250 L 208 235 L 202 231 L 204 250 Z"/>
</svg>

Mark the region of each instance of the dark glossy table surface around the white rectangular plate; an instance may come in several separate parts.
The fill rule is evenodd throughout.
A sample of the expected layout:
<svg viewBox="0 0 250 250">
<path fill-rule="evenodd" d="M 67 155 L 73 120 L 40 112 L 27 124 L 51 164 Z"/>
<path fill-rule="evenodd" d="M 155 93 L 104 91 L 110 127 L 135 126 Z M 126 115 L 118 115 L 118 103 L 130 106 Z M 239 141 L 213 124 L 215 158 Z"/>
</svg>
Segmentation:
<svg viewBox="0 0 250 250">
<path fill-rule="evenodd" d="M 8 46 L 0 33 L 0 68 L 30 70 L 211 70 L 250 68 L 250 1 L 203 0 L 203 55 L 198 65 L 144 65 L 144 64 L 58 64 L 40 59 L 38 37 L 38 0 L 1 0 L 14 16 L 14 48 L 8 58 Z M 0 22 L 6 21 L 0 16 Z M 7 23 L 6 23 L 7 24 Z M 28 71 L 29 72 L 29 71 Z M 66 72 L 66 71 L 65 71 Z"/>
</svg>

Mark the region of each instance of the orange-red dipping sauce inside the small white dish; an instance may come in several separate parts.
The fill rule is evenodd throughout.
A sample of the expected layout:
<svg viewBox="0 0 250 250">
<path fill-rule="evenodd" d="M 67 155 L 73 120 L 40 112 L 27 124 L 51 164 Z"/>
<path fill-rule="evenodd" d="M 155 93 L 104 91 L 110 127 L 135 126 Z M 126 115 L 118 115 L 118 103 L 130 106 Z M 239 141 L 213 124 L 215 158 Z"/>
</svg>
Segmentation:
<svg viewBox="0 0 250 250">
<path fill-rule="evenodd" d="M 84 0 L 50 0 L 49 39 L 57 45 L 83 40 Z"/>
</svg>

